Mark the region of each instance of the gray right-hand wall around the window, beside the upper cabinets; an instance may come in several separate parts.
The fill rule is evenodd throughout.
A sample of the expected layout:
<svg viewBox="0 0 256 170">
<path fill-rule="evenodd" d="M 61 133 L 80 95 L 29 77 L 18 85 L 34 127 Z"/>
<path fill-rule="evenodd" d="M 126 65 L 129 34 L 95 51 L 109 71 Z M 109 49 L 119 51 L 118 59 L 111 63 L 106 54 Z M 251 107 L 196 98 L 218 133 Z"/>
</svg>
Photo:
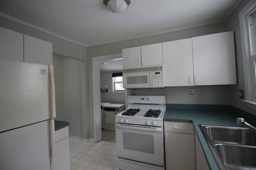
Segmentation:
<svg viewBox="0 0 256 170">
<path fill-rule="evenodd" d="M 238 90 L 245 90 L 244 84 L 244 68 L 243 68 L 243 55 L 242 55 L 242 43 L 241 43 L 241 30 L 239 22 L 239 12 L 250 2 L 249 0 L 244 0 L 239 4 L 236 10 L 229 16 L 226 21 L 226 30 L 234 31 L 235 35 L 235 49 L 236 49 L 236 72 L 237 72 L 237 84 L 230 86 L 230 105 L 242 109 L 246 112 L 256 115 L 256 111 L 246 106 L 242 101 L 243 99 L 239 98 Z"/>
</svg>

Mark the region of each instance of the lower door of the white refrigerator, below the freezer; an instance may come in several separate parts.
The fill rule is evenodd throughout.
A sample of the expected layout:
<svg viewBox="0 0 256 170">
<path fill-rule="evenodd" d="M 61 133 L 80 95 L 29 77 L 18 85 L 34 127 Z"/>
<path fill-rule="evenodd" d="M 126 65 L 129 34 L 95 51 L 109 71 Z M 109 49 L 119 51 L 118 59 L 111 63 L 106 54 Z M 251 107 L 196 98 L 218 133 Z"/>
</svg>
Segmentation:
<svg viewBox="0 0 256 170">
<path fill-rule="evenodd" d="M 0 133 L 0 169 L 50 170 L 50 121 Z"/>
</svg>

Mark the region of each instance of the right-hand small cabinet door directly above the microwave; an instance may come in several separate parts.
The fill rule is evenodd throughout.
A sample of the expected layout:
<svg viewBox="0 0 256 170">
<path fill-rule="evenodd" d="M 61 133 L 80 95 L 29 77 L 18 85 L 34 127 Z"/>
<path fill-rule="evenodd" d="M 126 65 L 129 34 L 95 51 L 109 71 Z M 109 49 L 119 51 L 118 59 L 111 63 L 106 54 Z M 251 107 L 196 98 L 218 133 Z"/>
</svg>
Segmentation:
<svg viewBox="0 0 256 170">
<path fill-rule="evenodd" d="M 142 67 L 163 65 L 162 43 L 141 46 Z"/>
</svg>

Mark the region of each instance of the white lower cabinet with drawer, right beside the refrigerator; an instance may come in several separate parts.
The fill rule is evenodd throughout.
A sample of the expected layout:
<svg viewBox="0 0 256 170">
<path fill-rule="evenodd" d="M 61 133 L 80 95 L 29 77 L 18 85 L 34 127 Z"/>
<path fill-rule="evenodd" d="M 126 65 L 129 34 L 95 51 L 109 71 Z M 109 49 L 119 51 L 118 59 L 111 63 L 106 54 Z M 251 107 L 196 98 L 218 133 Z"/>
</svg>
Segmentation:
<svg viewBox="0 0 256 170">
<path fill-rule="evenodd" d="M 69 170 L 68 126 L 55 131 L 55 170 Z"/>
</svg>

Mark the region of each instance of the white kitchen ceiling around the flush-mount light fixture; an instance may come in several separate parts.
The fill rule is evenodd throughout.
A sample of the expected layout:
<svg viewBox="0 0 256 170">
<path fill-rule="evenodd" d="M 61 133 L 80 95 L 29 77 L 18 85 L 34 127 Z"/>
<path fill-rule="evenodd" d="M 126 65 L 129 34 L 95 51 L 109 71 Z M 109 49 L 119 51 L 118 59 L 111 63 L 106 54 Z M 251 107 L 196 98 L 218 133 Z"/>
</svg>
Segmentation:
<svg viewBox="0 0 256 170">
<path fill-rule="evenodd" d="M 103 0 L 1 0 L 0 15 L 92 46 L 224 21 L 241 0 L 131 0 L 112 13 Z"/>
</svg>

